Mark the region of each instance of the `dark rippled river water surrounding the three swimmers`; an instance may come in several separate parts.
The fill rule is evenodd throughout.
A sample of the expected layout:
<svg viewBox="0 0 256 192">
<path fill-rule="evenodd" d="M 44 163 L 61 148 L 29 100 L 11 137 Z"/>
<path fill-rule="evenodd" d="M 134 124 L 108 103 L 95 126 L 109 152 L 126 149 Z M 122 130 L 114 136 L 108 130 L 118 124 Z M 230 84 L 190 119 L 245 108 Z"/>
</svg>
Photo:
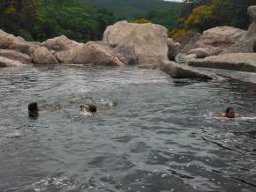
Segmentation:
<svg viewBox="0 0 256 192">
<path fill-rule="evenodd" d="M 1 192 L 256 191 L 251 83 L 83 66 L 0 74 Z M 102 99 L 118 105 L 79 116 Z M 32 101 L 61 109 L 29 119 Z M 211 115 L 230 105 L 244 117 Z"/>
</svg>

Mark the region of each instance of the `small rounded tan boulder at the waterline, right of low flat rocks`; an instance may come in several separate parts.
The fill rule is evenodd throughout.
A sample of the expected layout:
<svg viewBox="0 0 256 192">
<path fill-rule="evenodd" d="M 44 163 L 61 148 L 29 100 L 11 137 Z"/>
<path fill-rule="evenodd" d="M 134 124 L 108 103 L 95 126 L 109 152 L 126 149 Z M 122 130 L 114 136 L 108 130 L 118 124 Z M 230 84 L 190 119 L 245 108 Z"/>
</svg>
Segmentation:
<svg viewBox="0 0 256 192">
<path fill-rule="evenodd" d="M 58 64 L 56 57 L 44 47 L 34 49 L 33 61 L 34 64 Z"/>
</svg>

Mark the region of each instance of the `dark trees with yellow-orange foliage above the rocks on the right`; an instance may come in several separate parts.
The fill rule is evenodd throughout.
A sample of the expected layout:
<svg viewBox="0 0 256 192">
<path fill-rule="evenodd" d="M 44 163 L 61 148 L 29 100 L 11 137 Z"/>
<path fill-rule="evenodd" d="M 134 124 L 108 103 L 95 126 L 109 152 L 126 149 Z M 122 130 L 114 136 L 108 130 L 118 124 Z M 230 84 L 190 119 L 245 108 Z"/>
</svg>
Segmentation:
<svg viewBox="0 0 256 192">
<path fill-rule="evenodd" d="M 172 35 L 177 37 L 186 31 L 202 32 L 215 26 L 235 26 L 246 29 L 250 24 L 248 6 L 256 0 L 204 0 L 184 4 Z"/>
</svg>

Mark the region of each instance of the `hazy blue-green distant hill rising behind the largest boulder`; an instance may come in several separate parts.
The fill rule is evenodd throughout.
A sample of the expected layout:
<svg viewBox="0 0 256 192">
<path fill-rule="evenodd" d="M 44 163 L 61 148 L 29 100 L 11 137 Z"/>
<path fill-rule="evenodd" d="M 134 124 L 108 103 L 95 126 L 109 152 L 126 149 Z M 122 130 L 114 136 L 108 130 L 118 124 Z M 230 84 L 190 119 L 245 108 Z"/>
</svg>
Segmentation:
<svg viewBox="0 0 256 192">
<path fill-rule="evenodd" d="M 163 11 L 170 6 L 178 6 L 177 3 L 162 0 L 85 0 L 94 4 L 97 8 L 107 9 L 115 13 L 119 18 L 131 18 L 136 14 L 144 14 L 148 11 Z"/>
</svg>

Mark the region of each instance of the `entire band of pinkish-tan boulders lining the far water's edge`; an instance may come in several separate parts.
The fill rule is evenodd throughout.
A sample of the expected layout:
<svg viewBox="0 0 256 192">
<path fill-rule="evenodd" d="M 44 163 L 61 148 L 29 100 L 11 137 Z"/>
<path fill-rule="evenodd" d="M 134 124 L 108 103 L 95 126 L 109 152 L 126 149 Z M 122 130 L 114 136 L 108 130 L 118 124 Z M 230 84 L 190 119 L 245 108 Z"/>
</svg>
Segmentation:
<svg viewBox="0 0 256 192">
<path fill-rule="evenodd" d="M 119 21 L 102 41 L 79 43 L 61 35 L 29 42 L 0 30 L 0 67 L 29 64 L 95 64 L 162 70 L 172 78 L 218 78 L 200 67 L 256 72 L 256 6 L 248 8 L 248 31 L 217 26 L 204 33 L 184 33 L 172 40 L 168 30 L 151 23 Z"/>
</svg>

